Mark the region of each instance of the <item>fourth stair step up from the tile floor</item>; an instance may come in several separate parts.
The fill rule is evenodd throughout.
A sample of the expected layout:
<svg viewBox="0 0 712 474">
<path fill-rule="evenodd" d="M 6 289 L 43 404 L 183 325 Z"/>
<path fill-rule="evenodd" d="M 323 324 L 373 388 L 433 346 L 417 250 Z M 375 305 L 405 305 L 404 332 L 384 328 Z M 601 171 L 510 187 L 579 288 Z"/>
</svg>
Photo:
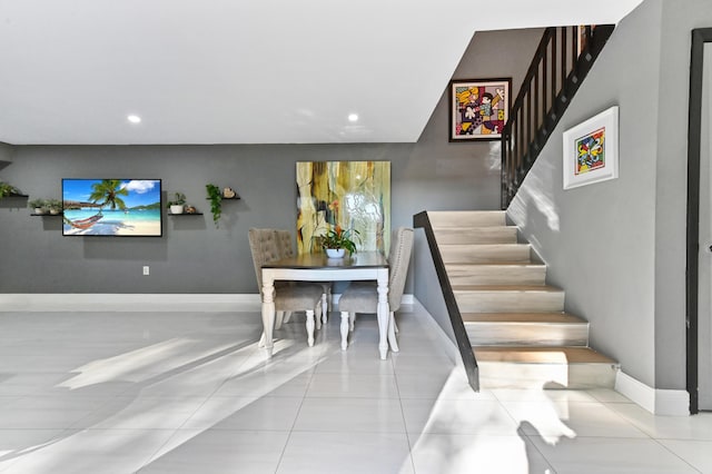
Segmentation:
<svg viewBox="0 0 712 474">
<path fill-rule="evenodd" d="M 546 265 L 446 264 L 451 285 L 544 285 Z"/>
</svg>

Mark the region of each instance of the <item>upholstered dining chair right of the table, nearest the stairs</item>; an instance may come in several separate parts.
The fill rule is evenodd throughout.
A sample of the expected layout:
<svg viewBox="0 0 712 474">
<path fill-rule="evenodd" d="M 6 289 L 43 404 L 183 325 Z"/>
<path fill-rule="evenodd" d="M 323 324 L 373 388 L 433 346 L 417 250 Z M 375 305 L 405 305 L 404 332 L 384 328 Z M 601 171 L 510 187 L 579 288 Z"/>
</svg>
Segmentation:
<svg viewBox="0 0 712 474">
<path fill-rule="evenodd" d="M 411 253 L 413 251 L 413 229 L 398 227 L 390 239 L 388 253 L 388 344 L 390 350 L 398 352 L 396 340 L 396 322 L 394 314 L 400 308 L 400 299 L 408 274 Z M 338 300 L 342 313 L 342 349 L 348 347 L 348 333 L 354 330 L 356 313 L 376 313 L 378 310 L 378 292 L 373 282 L 353 282 Z"/>
</svg>

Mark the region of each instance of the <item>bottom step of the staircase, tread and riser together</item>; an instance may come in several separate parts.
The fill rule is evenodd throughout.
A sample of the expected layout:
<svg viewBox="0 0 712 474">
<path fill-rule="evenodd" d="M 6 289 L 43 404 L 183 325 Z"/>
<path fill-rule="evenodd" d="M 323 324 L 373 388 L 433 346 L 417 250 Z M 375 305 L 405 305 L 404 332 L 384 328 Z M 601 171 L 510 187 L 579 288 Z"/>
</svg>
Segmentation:
<svg viewBox="0 0 712 474">
<path fill-rule="evenodd" d="M 473 347 L 483 388 L 613 388 L 620 365 L 590 347 Z"/>
</svg>

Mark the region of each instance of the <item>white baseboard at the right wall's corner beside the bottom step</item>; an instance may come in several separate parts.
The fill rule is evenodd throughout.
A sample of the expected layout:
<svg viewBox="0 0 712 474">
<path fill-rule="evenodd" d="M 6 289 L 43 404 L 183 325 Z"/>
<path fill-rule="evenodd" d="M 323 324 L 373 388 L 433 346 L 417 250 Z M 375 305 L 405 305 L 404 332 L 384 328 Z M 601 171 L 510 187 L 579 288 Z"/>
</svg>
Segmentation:
<svg viewBox="0 0 712 474">
<path fill-rule="evenodd" d="M 615 391 L 653 415 L 690 415 L 690 394 L 686 391 L 653 388 L 622 371 L 619 371 L 615 377 Z"/>
</svg>

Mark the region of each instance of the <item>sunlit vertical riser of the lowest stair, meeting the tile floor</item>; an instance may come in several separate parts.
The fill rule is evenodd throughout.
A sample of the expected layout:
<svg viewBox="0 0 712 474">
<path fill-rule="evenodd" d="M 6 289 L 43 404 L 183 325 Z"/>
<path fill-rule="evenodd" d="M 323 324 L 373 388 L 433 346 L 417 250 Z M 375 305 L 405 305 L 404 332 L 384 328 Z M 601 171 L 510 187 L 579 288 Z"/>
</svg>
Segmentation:
<svg viewBox="0 0 712 474">
<path fill-rule="evenodd" d="M 514 364 L 479 365 L 482 388 L 613 388 L 617 365 L 612 364 Z"/>
</svg>

